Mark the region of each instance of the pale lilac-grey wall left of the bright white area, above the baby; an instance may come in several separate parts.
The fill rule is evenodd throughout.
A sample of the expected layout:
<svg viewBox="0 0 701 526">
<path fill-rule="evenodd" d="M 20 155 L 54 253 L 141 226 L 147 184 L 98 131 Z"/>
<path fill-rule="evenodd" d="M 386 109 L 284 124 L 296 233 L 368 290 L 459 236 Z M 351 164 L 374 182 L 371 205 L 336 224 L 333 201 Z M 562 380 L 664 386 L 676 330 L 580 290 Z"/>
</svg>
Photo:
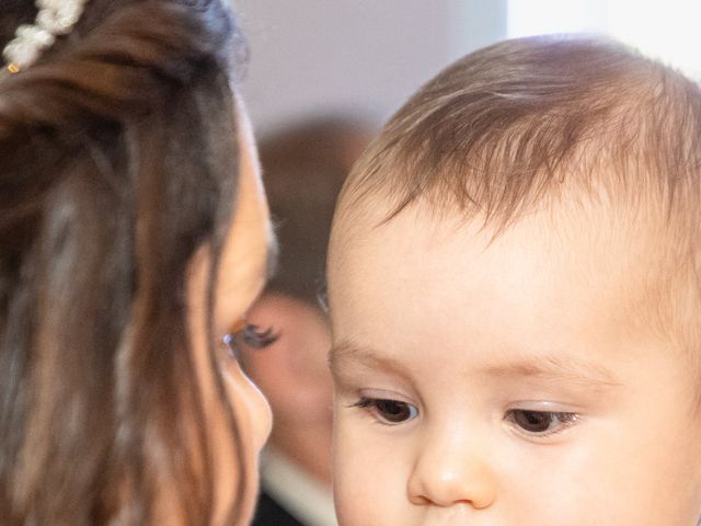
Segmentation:
<svg viewBox="0 0 701 526">
<path fill-rule="evenodd" d="M 449 62 L 506 33 L 506 0 L 235 0 L 243 94 L 267 132 L 312 114 L 381 122 Z"/>
</svg>

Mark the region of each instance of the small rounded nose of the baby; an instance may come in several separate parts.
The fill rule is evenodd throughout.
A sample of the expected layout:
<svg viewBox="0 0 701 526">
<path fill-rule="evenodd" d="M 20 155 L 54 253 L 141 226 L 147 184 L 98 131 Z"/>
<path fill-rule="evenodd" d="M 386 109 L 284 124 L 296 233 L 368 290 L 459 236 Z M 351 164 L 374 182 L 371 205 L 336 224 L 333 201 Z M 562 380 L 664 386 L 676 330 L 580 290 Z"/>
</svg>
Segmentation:
<svg viewBox="0 0 701 526">
<path fill-rule="evenodd" d="M 483 510 L 494 503 L 497 481 L 489 450 L 462 436 L 446 431 L 443 438 L 426 438 L 407 483 L 413 504 L 447 507 L 463 503 Z"/>
</svg>

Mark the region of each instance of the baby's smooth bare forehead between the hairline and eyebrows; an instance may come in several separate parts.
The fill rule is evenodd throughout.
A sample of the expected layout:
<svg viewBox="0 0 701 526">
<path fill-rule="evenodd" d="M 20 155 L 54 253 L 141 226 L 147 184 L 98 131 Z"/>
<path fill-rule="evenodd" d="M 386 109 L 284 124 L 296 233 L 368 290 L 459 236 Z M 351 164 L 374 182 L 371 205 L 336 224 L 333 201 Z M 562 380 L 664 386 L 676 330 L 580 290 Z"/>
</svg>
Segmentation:
<svg viewBox="0 0 701 526">
<path fill-rule="evenodd" d="M 698 353 L 685 351 L 699 341 L 694 254 L 682 239 L 688 232 L 653 199 L 591 198 L 573 187 L 506 227 L 436 206 L 416 199 L 398 210 L 387 193 L 340 204 L 329 261 L 336 334 L 388 333 L 379 346 L 391 348 L 397 339 L 411 346 L 421 333 L 440 345 L 470 327 L 460 341 L 486 331 L 483 343 L 495 348 L 553 343 L 585 357 L 609 327 L 609 343 L 647 334 L 660 351 L 682 350 L 689 370 L 699 369 Z M 412 310 L 420 316 L 407 322 Z M 499 346 L 506 334 L 513 338 Z M 444 348 L 459 354 L 460 341 Z"/>
</svg>

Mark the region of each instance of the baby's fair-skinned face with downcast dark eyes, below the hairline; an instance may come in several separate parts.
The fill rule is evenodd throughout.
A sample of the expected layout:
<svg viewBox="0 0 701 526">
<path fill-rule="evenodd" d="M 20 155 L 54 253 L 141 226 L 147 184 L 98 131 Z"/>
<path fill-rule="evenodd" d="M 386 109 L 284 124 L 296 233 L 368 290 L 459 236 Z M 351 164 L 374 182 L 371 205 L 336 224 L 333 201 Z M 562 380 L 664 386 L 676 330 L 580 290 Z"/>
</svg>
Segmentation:
<svg viewBox="0 0 701 526">
<path fill-rule="evenodd" d="M 422 206 L 334 227 L 341 525 L 696 525 L 701 415 L 632 229 L 533 217 L 489 244 Z"/>
</svg>

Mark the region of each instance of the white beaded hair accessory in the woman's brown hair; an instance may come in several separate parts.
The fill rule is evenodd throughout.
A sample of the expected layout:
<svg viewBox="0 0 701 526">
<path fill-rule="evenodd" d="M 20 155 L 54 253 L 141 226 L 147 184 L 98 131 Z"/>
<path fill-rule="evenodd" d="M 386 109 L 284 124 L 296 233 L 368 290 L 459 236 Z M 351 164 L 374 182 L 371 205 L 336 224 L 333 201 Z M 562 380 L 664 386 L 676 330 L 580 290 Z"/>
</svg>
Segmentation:
<svg viewBox="0 0 701 526">
<path fill-rule="evenodd" d="M 33 25 L 18 27 L 14 38 L 5 46 L 2 56 L 12 73 L 32 66 L 56 37 L 67 35 L 80 20 L 89 0 L 36 0 L 38 13 Z"/>
</svg>

